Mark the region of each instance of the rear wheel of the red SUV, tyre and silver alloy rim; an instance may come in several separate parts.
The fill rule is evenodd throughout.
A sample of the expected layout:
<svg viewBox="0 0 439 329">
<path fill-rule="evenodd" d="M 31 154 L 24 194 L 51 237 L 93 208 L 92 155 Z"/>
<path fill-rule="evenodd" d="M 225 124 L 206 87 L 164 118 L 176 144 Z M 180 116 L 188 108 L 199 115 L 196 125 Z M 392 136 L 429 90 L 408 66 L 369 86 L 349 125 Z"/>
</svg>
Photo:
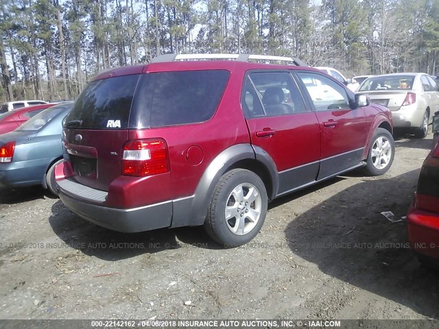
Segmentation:
<svg viewBox="0 0 439 329">
<path fill-rule="evenodd" d="M 267 207 L 261 178 L 246 169 L 233 169 L 215 186 L 204 228 L 224 247 L 244 245 L 261 230 Z"/>
</svg>

